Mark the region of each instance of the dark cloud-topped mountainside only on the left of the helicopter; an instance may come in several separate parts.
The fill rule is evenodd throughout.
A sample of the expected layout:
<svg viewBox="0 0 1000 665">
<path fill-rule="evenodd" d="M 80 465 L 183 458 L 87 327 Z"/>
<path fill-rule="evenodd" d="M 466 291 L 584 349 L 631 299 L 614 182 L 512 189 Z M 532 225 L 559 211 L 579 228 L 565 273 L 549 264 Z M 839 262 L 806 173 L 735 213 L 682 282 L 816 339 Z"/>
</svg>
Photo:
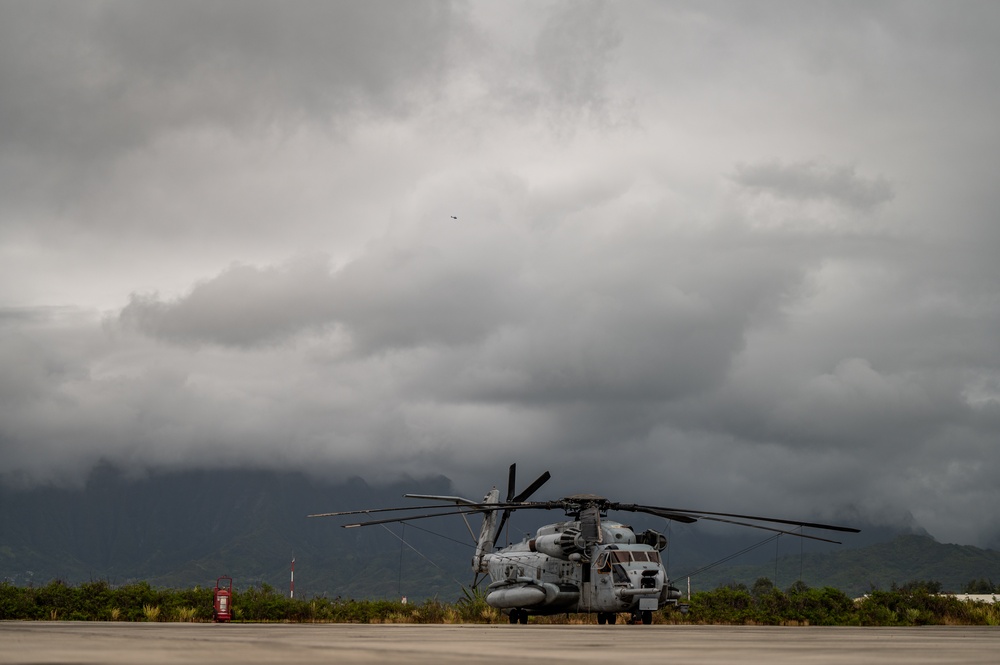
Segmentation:
<svg viewBox="0 0 1000 665">
<path fill-rule="evenodd" d="M 374 488 L 357 479 L 334 485 L 301 474 L 236 470 L 129 481 L 108 469 L 81 490 L 0 490 L 0 580 L 22 586 L 144 580 L 186 588 L 231 575 L 241 588 L 288 589 L 294 556 L 301 596 L 457 598 L 472 578 L 471 543 L 460 520 L 433 527 L 464 537 L 465 547 L 392 527 L 405 536 L 404 546 L 389 529 L 345 530 L 334 520 L 306 518 L 398 503 L 413 491 L 454 493 L 447 479 Z"/>
</svg>

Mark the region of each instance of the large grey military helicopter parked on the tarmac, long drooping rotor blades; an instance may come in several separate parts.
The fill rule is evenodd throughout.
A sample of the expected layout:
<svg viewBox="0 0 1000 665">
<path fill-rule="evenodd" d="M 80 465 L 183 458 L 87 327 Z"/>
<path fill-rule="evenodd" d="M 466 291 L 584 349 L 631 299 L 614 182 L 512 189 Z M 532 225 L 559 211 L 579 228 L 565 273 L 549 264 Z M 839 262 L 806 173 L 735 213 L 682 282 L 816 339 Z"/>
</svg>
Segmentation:
<svg viewBox="0 0 1000 665">
<path fill-rule="evenodd" d="M 457 496 L 404 494 L 406 498 L 443 503 L 317 513 L 309 517 L 371 515 L 405 510 L 435 511 L 341 525 L 350 529 L 443 515 L 461 515 L 476 541 L 472 557 L 472 568 L 475 571 L 472 586 L 477 587 L 480 576 L 488 574 L 490 584 L 486 588 L 486 602 L 506 614 L 512 624 L 528 623 L 528 616 L 531 614 L 576 612 L 596 613 L 597 623 L 601 625 L 614 624 L 619 613 L 631 613 L 633 623 L 641 621 L 648 625 L 653 621 L 653 612 L 678 604 L 680 590 L 671 585 L 660 557 L 667 547 L 666 536 L 652 529 L 636 533 L 632 527 L 608 519 L 610 511 L 646 513 L 685 524 L 698 520 L 726 522 L 836 544 L 840 544 L 839 541 L 806 534 L 801 530 L 789 531 L 775 525 L 859 532 L 859 529 L 852 527 L 815 522 L 620 503 L 593 494 L 574 494 L 555 501 L 528 501 L 551 475 L 546 471 L 515 495 L 515 473 L 516 465 L 512 464 L 507 482 L 507 497 L 502 502 L 500 491 L 493 487 L 482 501 Z M 444 510 L 451 508 L 448 504 L 454 504 L 456 509 Z M 563 510 L 567 519 L 539 528 L 534 538 L 525 537 L 519 543 L 497 549 L 497 536 L 515 510 Z M 470 514 L 483 515 L 478 537 L 468 522 Z"/>
</svg>

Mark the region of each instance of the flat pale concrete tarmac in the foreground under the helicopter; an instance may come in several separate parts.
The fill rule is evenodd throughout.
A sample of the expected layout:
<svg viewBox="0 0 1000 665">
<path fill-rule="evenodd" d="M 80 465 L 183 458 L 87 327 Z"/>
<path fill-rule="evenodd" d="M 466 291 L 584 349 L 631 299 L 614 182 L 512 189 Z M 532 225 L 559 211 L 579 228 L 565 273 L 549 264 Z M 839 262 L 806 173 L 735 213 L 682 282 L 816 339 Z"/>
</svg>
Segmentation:
<svg viewBox="0 0 1000 665">
<path fill-rule="evenodd" d="M 990 663 L 1000 628 L 0 622 L 0 663 Z"/>
</svg>

